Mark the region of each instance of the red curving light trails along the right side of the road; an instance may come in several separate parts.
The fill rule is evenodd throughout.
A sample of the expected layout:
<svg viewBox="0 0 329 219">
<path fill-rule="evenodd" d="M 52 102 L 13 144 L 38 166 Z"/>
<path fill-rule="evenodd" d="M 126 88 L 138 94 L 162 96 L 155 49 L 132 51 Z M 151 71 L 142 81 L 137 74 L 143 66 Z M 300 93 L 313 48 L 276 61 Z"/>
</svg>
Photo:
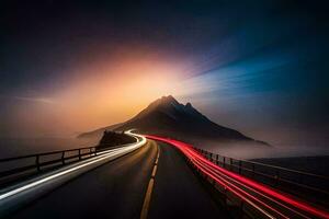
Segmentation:
<svg viewBox="0 0 329 219">
<path fill-rule="evenodd" d="M 250 178 L 247 178 L 245 176 L 241 176 L 239 174 L 236 174 L 231 171 L 228 171 L 224 168 L 214 164 L 213 162 L 204 158 L 202 154 L 200 154 L 196 150 L 194 150 L 191 145 L 177 141 L 173 139 L 158 137 L 158 136 L 146 136 L 146 137 L 154 140 L 160 140 L 177 147 L 181 152 L 183 152 L 183 154 L 185 154 L 193 162 L 193 164 L 198 170 L 201 170 L 204 174 L 208 175 L 211 178 L 215 180 L 215 182 L 217 182 L 225 188 L 230 189 L 231 192 L 234 191 L 232 193 L 236 194 L 238 197 L 242 198 L 243 200 L 248 199 L 248 203 L 250 203 L 250 198 L 253 199 L 262 207 L 270 209 L 275 214 L 279 214 L 280 217 L 287 217 L 285 215 L 288 211 L 291 214 L 297 214 L 298 216 L 302 216 L 304 218 L 308 218 L 308 216 L 305 216 L 305 214 L 310 214 L 311 216 L 316 216 L 319 218 L 329 218 L 329 214 L 324 210 L 317 209 L 288 195 L 281 194 L 263 184 L 260 184 L 256 181 L 252 181 Z M 237 182 L 239 184 L 239 187 L 234 185 L 229 181 L 225 180 L 224 177 L 228 178 L 229 181 Z M 247 191 L 256 192 L 259 196 L 262 196 L 262 198 L 264 198 L 268 203 L 260 200 L 252 193 L 247 193 L 245 191 L 246 188 Z M 277 206 L 279 208 L 274 209 L 275 205 L 270 206 L 269 203 L 271 201 L 275 203 L 275 205 L 279 205 Z M 293 208 L 298 209 L 298 211 Z M 268 215 L 268 217 L 270 217 L 270 215 Z"/>
</svg>

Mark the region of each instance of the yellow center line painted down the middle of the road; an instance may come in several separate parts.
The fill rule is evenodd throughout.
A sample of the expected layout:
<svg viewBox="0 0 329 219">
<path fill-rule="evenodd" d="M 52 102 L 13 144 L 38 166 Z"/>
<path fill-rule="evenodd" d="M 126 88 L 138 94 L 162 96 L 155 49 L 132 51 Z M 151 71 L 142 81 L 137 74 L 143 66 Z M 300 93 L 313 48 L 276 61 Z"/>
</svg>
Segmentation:
<svg viewBox="0 0 329 219">
<path fill-rule="evenodd" d="M 160 157 L 160 148 L 159 148 L 158 143 L 157 143 L 157 150 L 158 150 L 158 154 L 157 154 L 157 159 L 156 159 L 156 162 L 155 162 L 155 165 L 152 169 L 151 178 L 149 180 L 149 183 L 147 186 L 145 199 L 144 199 L 143 207 L 141 207 L 140 219 L 147 219 L 151 194 L 152 194 L 152 189 L 154 189 L 154 185 L 155 185 L 155 177 L 156 177 L 157 170 L 158 170 L 158 161 L 159 161 L 159 157 Z"/>
</svg>

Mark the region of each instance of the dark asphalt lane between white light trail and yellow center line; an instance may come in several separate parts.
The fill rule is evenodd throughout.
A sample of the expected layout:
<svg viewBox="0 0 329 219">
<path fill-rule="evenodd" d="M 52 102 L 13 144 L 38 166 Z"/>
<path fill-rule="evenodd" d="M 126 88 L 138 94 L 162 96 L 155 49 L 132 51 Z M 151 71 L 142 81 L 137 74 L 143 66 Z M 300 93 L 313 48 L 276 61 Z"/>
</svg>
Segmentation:
<svg viewBox="0 0 329 219">
<path fill-rule="evenodd" d="M 12 218 L 139 218 L 157 147 L 148 142 L 58 187 Z"/>
</svg>

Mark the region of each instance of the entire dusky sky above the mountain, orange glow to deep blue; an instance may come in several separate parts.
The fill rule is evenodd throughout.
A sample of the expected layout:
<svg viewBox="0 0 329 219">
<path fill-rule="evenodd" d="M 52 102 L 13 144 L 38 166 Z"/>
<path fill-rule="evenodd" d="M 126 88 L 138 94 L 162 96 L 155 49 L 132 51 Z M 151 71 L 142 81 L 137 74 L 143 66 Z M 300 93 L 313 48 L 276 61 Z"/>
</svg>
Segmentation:
<svg viewBox="0 0 329 219">
<path fill-rule="evenodd" d="M 75 136 L 172 94 L 277 145 L 327 146 L 325 1 L 1 1 L 0 137 Z"/>
</svg>

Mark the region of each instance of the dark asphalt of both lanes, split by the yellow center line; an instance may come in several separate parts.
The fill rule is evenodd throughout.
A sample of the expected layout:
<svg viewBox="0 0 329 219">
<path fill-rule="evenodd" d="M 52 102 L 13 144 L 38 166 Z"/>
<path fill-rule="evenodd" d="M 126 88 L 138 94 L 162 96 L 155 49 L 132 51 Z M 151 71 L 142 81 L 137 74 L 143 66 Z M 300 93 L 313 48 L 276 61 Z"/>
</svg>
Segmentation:
<svg viewBox="0 0 329 219">
<path fill-rule="evenodd" d="M 228 218 L 172 147 L 159 143 L 148 218 Z M 48 193 L 11 218 L 139 218 L 154 163 L 155 141 Z"/>
</svg>

